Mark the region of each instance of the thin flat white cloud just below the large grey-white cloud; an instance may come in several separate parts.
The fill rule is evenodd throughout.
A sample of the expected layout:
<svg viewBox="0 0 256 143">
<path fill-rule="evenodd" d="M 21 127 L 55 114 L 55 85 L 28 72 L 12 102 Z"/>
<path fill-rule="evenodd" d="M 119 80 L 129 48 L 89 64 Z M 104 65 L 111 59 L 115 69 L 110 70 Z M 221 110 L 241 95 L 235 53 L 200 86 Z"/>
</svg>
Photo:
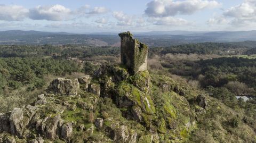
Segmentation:
<svg viewBox="0 0 256 143">
<path fill-rule="evenodd" d="M 153 22 L 153 24 L 159 26 L 184 26 L 189 24 L 185 19 L 173 18 L 172 16 L 164 18 L 149 18 L 149 22 Z"/>
</svg>

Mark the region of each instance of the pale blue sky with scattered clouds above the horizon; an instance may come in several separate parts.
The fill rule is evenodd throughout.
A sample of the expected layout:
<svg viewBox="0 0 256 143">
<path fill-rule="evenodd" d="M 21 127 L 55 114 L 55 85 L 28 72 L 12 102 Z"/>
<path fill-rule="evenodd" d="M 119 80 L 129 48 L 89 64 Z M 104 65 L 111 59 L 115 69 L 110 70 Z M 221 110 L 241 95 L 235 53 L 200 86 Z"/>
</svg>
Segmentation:
<svg viewBox="0 0 256 143">
<path fill-rule="evenodd" d="M 0 31 L 256 30 L 256 0 L 0 0 Z"/>
</svg>

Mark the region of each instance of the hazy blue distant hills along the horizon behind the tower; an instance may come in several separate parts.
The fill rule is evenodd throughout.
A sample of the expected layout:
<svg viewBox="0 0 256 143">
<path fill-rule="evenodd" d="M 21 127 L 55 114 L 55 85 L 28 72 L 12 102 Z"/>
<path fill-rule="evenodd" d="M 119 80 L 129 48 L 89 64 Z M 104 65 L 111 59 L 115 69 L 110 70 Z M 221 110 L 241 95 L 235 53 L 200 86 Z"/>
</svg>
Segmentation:
<svg viewBox="0 0 256 143">
<path fill-rule="evenodd" d="M 134 33 L 134 37 L 150 47 L 204 42 L 229 42 L 249 47 L 254 47 L 256 44 L 256 31 L 151 31 Z M 241 41 L 246 42 L 237 43 Z M 0 31 L 0 44 L 2 45 L 83 44 L 87 46 L 119 46 L 119 42 L 119 37 L 115 32 L 76 34 L 21 30 Z"/>
</svg>

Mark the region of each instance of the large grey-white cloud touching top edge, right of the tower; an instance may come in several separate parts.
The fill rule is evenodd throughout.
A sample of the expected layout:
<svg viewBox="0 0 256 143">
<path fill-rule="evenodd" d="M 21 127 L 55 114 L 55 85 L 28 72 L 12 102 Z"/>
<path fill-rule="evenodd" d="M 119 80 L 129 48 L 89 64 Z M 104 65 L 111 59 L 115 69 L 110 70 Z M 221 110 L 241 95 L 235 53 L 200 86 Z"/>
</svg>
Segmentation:
<svg viewBox="0 0 256 143">
<path fill-rule="evenodd" d="M 220 6 L 217 1 L 208 0 L 154 0 L 147 4 L 145 14 L 154 17 L 167 17 L 177 14 L 193 14 L 203 9 L 213 9 Z"/>
</svg>

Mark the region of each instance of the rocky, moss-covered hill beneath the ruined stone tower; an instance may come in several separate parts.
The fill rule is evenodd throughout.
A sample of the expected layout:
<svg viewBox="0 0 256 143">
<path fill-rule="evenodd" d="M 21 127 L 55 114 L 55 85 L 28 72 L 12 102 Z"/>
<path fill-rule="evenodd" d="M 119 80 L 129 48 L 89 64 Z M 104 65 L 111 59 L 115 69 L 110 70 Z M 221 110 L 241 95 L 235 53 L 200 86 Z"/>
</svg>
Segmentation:
<svg viewBox="0 0 256 143">
<path fill-rule="evenodd" d="M 36 102 L 0 114 L 0 142 L 243 142 L 222 125 L 239 116 L 185 82 L 103 64 L 93 76 L 54 79 Z M 253 142 L 253 129 L 239 124 Z M 203 128 L 218 136 L 195 134 Z"/>
</svg>

